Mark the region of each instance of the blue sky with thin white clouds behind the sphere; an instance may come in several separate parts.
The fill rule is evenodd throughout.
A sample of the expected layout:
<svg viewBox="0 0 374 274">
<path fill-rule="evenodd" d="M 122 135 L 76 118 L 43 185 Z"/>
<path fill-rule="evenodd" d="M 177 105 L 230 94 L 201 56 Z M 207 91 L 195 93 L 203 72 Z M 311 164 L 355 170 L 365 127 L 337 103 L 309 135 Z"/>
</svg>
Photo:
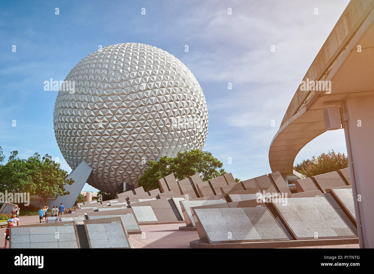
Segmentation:
<svg viewBox="0 0 374 274">
<path fill-rule="evenodd" d="M 44 81 L 64 80 L 100 45 L 136 42 L 171 53 L 199 81 L 209 115 L 204 150 L 242 180 L 270 173 L 270 142 L 348 2 L 1 1 L 0 146 L 6 157 L 48 153 L 70 172 L 53 131 L 57 91 Z M 329 149 L 346 153 L 343 130 L 311 141 L 295 162 Z"/>
</svg>

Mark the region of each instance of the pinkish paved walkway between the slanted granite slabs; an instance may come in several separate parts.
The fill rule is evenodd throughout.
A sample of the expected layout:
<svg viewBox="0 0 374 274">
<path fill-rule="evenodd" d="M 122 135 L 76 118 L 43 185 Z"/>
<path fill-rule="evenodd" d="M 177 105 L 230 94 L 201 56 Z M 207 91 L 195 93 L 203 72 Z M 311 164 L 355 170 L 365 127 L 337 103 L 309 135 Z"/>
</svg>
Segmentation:
<svg viewBox="0 0 374 274">
<path fill-rule="evenodd" d="M 39 215 L 20 216 L 19 222 L 21 225 L 38 224 Z M 43 223 L 40 225 L 43 225 Z M 181 231 L 179 230 L 180 226 L 183 226 L 183 224 L 140 225 L 139 227 L 143 233 L 129 235 L 129 239 L 134 245 L 134 248 L 189 248 L 190 241 L 199 239 L 199 235 L 197 234 L 197 231 Z M 4 235 L 5 229 L 6 227 L 0 229 L 0 235 Z M 3 247 L 3 245 L 4 242 L 2 242 L 1 247 Z M 9 241 L 7 246 L 9 246 Z M 359 245 L 307 246 L 292 248 L 359 248 Z"/>
</svg>

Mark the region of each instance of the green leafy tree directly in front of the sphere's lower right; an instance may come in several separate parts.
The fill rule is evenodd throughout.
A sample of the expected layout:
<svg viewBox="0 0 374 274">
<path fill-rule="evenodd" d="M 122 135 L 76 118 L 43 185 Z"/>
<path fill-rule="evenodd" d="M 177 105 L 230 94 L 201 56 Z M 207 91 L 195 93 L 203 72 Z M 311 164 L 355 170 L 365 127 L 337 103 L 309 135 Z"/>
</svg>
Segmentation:
<svg viewBox="0 0 374 274">
<path fill-rule="evenodd" d="M 139 177 L 138 185 L 147 190 L 159 188 L 158 180 L 174 173 L 177 181 L 200 174 L 203 181 L 226 174 L 222 162 L 214 158 L 211 152 L 199 149 L 178 152 L 175 158 L 163 156 L 159 161 L 148 161 L 147 169 Z M 224 172 L 224 173 L 223 173 Z"/>
</svg>

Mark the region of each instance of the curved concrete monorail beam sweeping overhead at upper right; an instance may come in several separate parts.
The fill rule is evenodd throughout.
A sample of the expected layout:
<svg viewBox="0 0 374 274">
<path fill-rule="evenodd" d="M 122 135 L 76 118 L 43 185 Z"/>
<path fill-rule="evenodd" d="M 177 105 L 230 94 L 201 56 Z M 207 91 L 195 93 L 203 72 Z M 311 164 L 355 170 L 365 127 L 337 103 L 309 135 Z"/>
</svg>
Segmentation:
<svg viewBox="0 0 374 274">
<path fill-rule="evenodd" d="M 331 81 L 331 93 L 298 87 L 269 148 L 272 171 L 293 174 L 298 152 L 324 133 L 323 110 L 348 97 L 374 95 L 374 0 L 351 1 L 303 81 Z M 361 46 L 361 52 L 357 51 Z M 356 76 L 356 77 L 355 77 Z"/>
</svg>

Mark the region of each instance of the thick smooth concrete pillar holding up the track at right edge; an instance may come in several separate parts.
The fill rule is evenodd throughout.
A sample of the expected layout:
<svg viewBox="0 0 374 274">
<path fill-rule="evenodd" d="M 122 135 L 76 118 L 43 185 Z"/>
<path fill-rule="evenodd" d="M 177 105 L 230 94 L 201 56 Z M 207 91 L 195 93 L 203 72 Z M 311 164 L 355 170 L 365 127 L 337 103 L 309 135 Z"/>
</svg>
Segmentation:
<svg viewBox="0 0 374 274">
<path fill-rule="evenodd" d="M 349 98 L 342 110 L 360 247 L 374 248 L 374 97 Z"/>
</svg>

